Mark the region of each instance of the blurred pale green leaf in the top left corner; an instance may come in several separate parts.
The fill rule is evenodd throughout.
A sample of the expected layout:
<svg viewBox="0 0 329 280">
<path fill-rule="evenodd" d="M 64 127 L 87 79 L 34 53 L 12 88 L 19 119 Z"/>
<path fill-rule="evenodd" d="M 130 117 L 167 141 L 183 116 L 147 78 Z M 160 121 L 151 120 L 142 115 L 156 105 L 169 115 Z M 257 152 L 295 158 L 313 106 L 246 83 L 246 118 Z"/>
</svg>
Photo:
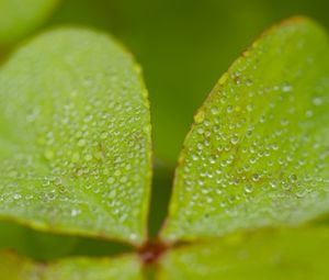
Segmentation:
<svg viewBox="0 0 329 280">
<path fill-rule="evenodd" d="M 25 35 L 45 21 L 59 0 L 1 0 L 0 44 Z"/>
</svg>

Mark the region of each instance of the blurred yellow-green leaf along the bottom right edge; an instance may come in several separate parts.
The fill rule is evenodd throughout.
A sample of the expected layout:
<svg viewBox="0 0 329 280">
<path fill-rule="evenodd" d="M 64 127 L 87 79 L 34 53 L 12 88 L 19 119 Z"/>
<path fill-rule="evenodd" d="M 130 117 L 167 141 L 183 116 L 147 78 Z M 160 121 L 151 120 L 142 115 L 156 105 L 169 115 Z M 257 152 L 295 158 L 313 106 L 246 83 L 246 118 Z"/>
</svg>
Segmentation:
<svg viewBox="0 0 329 280">
<path fill-rule="evenodd" d="M 232 235 L 168 253 L 159 280 L 328 279 L 329 229 Z"/>
</svg>

